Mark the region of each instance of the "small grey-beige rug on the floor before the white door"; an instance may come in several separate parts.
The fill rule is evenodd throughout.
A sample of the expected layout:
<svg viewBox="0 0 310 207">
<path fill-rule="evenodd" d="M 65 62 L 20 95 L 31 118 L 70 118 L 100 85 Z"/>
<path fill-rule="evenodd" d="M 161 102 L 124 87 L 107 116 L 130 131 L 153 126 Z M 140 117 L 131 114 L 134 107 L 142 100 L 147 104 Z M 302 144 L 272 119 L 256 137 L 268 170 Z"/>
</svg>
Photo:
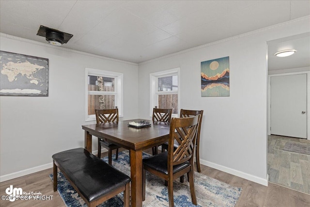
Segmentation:
<svg viewBox="0 0 310 207">
<path fill-rule="evenodd" d="M 298 143 L 277 139 L 273 148 L 304 155 L 310 155 L 310 143 Z"/>
</svg>

